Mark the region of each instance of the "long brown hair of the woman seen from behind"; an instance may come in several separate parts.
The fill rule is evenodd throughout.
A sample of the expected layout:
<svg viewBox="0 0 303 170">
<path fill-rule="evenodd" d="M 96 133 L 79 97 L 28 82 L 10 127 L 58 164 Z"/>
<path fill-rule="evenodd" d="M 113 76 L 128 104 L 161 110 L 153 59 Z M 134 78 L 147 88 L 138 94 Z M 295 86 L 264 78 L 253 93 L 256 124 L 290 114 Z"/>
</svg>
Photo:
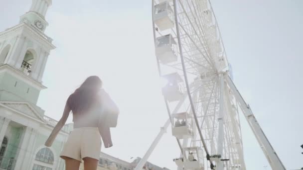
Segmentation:
<svg viewBox="0 0 303 170">
<path fill-rule="evenodd" d="M 73 114 L 83 114 L 94 104 L 100 102 L 98 92 L 101 87 L 102 81 L 98 76 L 88 77 L 67 99 Z"/>
</svg>

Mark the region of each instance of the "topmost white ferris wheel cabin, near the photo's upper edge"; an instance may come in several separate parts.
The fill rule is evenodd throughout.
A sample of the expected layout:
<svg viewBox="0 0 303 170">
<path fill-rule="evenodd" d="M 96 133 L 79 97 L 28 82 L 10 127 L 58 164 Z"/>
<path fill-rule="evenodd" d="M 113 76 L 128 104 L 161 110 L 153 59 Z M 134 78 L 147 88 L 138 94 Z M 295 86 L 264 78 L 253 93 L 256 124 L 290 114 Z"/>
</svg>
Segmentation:
<svg viewBox="0 0 303 170">
<path fill-rule="evenodd" d="M 163 2 L 154 5 L 153 21 L 163 31 L 174 26 L 174 14 L 169 5 L 168 0 L 161 0 Z"/>
</svg>

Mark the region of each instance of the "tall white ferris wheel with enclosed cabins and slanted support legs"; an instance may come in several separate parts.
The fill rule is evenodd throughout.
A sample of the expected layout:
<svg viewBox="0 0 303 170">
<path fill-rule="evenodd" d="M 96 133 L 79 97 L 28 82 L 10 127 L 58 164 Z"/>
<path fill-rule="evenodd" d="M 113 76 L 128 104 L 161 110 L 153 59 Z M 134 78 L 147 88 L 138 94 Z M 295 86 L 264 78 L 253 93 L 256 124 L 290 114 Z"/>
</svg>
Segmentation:
<svg viewBox="0 0 303 170">
<path fill-rule="evenodd" d="M 250 107 L 232 82 L 209 0 L 152 0 L 158 72 L 168 121 L 135 170 L 141 170 L 171 124 L 179 170 L 246 170 L 243 113 L 273 170 L 286 170 Z M 177 156 L 176 156 L 177 157 Z"/>
</svg>

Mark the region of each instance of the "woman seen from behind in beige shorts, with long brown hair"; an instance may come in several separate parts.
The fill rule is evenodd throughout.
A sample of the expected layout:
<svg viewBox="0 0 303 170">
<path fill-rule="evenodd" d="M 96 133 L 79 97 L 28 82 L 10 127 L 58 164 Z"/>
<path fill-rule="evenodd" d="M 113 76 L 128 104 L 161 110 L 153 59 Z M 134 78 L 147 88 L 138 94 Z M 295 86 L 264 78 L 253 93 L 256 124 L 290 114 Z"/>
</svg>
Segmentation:
<svg viewBox="0 0 303 170">
<path fill-rule="evenodd" d="M 79 170 L 82 160 L 84 170 L 97 170 L 101 151 L 100 137 L 106 148 L 113 146 L 110 127 L 116 127 L 119 109 L 101 87 L 99 77 L 87 78 L 68 97 L 62 118 L 45 142 L 47 147 L 52 145 L 72 111 L 74 130 L 60 155 L 65 160 L 66 170 Z"/>
</svg>

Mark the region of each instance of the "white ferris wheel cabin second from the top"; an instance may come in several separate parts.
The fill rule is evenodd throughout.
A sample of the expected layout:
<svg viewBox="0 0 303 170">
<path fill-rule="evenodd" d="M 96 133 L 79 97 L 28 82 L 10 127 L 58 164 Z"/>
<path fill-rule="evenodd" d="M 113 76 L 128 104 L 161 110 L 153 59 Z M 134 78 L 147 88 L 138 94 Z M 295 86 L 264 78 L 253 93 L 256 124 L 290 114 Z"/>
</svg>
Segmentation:
<svg viewBox="0 0 303 170">
<path fill-rule="evenodd" d="M 177 43 L 171 34 L 156 38 L 155 55 L 162 64 L 177 61 Z"/>
</svg>

